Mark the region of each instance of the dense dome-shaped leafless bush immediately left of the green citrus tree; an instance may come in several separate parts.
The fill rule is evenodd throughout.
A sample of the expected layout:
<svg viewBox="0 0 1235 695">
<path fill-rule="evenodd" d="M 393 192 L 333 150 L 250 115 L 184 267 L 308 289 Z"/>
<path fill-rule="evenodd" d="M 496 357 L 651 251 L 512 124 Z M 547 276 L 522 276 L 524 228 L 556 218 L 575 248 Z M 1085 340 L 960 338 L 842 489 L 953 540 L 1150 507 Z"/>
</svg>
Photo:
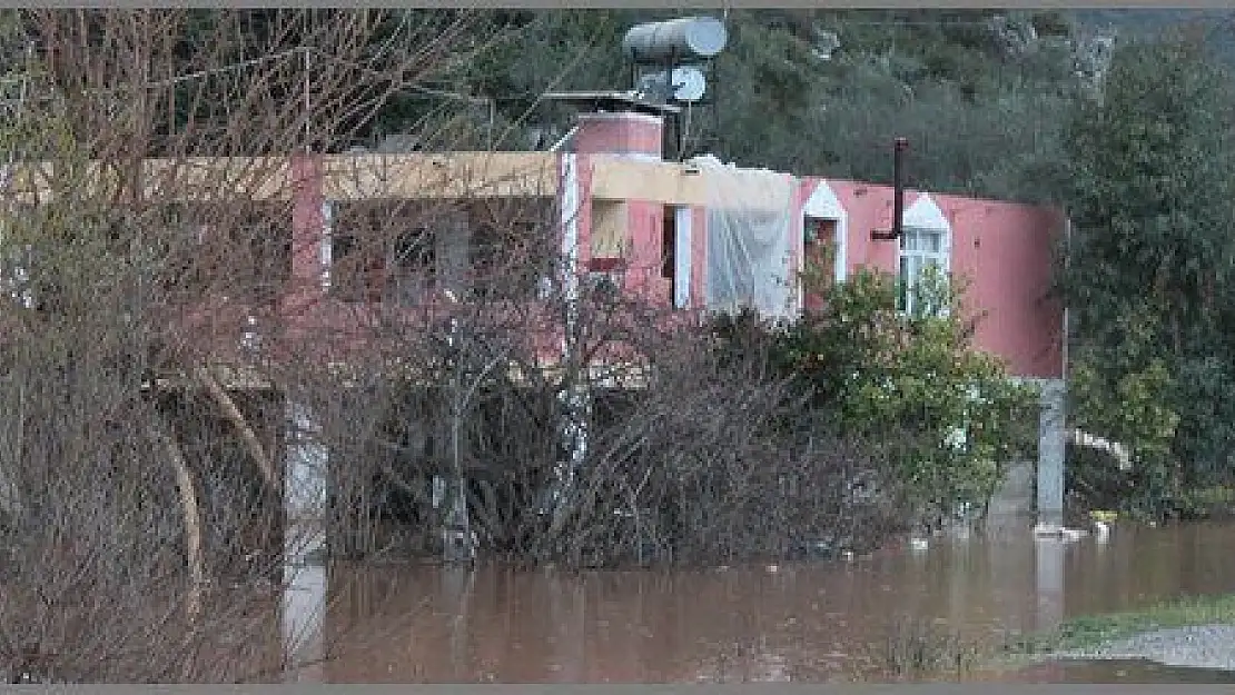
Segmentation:
<svg viewBox="0 0 1235 695">
<path fill-rule="evenodd" d="M 646 388 L 597 417 L 576 496 L 542 543 L 576 563 L 721 563 L 862 547 L 894 522 L 890 500 L 852 494 L 877 452 L 830 436 L 766 372 L 766 346 L 732 363 L 709 338 L 647 346 Z"/>
</svg>

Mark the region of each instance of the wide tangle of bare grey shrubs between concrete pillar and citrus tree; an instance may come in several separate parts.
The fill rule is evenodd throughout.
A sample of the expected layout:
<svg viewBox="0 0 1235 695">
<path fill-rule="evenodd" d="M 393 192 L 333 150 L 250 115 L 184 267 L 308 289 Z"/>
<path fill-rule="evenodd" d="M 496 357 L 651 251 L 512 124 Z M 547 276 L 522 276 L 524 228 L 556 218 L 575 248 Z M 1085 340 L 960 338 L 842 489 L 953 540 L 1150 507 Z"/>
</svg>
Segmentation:
<svg viewBox="0 0 1235 695">
<path fill-rule="evenodd" d="M 526 264 L 490 267 L 489 278 Z M 382 325 L 401 358 L 438 378 L 377 377 L 363 386 L 377 409 L 364 423 L 335 420 L 343 426 L 326 437 L 351 452 L 337 509 L 353 518 L 342 527 L 372 530 L 354 515 L 384 512 L 420 532 L 410 548 L 440 552 L 450 493 L 435 504 L 435 477 L 464 479 L 453 494 L 482 551 L 525 562 L 826 553 L 872 546 L 902 521 L 893 481 L 878 479 L 881 453 L 830 436 L 767 372 L 766 346 L 726 360 L 697 317 L 590 284 L 454 309 Z M 553 339 L 564 357 L 541 369 L 537 348 Z M 584 436 L 572 442 L 576 420 Z M 371 537 L 352 549 L 383 546 Z"/>
</svg>

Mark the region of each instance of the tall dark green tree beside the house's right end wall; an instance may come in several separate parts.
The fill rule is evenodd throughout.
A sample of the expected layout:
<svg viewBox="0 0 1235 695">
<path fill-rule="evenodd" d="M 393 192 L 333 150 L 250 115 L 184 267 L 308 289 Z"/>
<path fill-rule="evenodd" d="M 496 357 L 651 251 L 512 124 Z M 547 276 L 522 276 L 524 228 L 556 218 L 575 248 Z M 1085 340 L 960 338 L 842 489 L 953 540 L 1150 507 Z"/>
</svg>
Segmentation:
<svg viewBox="0 0 1235 695">
<path fill-rule="evenodd" d="M 1074 417 L 1132 446 L 1128 504 L 1150 514 L 1230 481 L 1230 85 L 1194 41 L 1129 43 L 1067 130 Z"/>
</svg>

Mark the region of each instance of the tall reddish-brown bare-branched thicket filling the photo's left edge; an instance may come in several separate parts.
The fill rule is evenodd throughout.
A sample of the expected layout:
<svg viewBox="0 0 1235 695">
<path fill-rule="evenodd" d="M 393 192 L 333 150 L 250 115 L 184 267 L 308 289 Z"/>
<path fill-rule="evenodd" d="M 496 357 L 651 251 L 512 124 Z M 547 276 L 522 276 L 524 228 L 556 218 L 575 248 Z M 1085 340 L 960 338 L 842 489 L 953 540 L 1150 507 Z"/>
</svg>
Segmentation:
<svg viewBox="0 0 1235 695">
<path fill-rule="evenodd" d="M 468 17 L 2 19 L 0 673 L 277 673 L 285 400 L 314 384 L 240 346 L 303 290 L 289 156 L 453 69 Z"/>
</svg>

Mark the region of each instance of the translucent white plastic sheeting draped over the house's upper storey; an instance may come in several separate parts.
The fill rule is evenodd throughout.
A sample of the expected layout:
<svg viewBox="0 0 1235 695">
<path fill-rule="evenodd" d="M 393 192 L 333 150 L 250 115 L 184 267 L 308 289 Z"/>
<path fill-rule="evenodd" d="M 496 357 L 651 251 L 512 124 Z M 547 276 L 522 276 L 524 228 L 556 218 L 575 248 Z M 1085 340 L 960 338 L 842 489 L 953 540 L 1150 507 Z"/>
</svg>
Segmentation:
<svg viewBox="0 0 1235 695">
<path fill-rule="evenodd" d="M 706 186 L 708 253 L 704 296 L 709 310 L 756 309 L 766 317 L 797 311 L 793 291 L 793 178 L 739 169 L 698 157 Z"/>
</svg>

